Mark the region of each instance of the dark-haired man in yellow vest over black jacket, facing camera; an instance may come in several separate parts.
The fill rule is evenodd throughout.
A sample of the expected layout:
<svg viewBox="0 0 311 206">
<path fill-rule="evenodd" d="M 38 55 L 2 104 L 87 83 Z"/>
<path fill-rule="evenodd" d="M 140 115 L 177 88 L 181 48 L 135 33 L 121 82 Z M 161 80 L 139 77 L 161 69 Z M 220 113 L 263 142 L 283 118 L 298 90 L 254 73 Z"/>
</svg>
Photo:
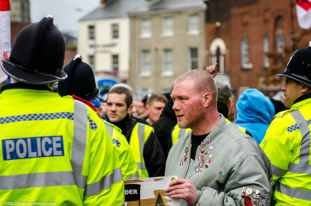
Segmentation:
<svg viewBox="0 0 311 206">
<path fill-rule="evenodd" d="M 107 96 L 107 121 L 122 130 L 136 160 L 141 178 L 163 176 L 165 159 L 162 148 L 151 126 L 129 117 L 132 95 L 124 87 L 111 88 Z"/>
</svg>

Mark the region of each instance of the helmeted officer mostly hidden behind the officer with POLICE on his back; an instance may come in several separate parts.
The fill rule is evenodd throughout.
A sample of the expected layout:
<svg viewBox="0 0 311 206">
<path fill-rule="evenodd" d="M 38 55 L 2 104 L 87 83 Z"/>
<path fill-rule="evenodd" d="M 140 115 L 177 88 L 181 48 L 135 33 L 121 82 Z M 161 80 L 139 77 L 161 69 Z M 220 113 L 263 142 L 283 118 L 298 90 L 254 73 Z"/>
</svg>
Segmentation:
<svg viewBox="0 0 311 206">
<path fill-rule="evenodd" d="M 62 82 L 58 82 L 58 94 L 82 101 L 97 112 L 91 102 L 99 96 L 100 91 L 96 88 L 93 69 L 90 65 L 82 62 L 81 55 L 77 54 L 75 58 L 64 67 L 64 72 L 67 73 L 68 78 Z M 117 157 L 121 164 L 123 180 L 138 179 L 140 176 L 137 164 L 126 138 L 118 127 L 109 124 L 105 120 L 102 121 L 114 144 L 114 148 L 117 150 Z"/>
</svg>

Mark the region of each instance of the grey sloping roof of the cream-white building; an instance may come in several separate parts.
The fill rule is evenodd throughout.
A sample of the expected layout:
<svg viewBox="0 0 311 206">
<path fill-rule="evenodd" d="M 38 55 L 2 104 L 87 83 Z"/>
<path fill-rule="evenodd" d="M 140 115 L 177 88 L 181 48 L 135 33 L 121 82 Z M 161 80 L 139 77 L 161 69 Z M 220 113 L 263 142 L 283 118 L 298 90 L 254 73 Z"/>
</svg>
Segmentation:
<svg viewBox="0 0 311 206">
<path fill-rule="evenodd" d="M 126 17 L 128 12 L 145 3 L 146 0 L 108 0 L 82 17 L 81 20 Z"/>
</svg>

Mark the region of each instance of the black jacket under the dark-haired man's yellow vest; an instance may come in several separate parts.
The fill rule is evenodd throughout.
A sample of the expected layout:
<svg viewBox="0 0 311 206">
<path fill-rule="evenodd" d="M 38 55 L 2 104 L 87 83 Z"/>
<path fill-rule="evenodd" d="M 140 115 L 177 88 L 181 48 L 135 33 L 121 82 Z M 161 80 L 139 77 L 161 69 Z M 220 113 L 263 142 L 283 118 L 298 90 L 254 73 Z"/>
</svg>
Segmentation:
<svg viewBox="0 0 311 206">
<path fill-rule="evenodd" d="M 106 118 L 108 122 L 109 119 Z M 112 122 L 111 122 L 112 123 Z M 122 134 L 128 140 L 131 141 L 131 133 L 137 121 L 128 115 L 118 123 L 112 123 L 122 130 Z M 155 133 L 151 132 L 149 138 L 146 140 L 143 150 L 143 156 L 146 164 L 146 168 L 149 177 L 160 177 L 164 176 L 165 172 L 165 156 L 161 145 L 156 138 Z"/>
</svg>

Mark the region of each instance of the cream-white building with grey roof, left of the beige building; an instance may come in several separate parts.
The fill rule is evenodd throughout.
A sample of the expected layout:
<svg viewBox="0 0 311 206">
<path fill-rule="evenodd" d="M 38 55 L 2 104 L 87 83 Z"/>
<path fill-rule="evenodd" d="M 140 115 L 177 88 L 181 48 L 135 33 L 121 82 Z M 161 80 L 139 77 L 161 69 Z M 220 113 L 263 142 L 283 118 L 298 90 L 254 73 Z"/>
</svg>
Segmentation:
<svg viewBox="0 0 311 206">
<path fill-rule="evenodd" d="M 108 0 L 79 20 L 78 54 L 96 76 L 127 81 L 130 61 L 128 12 L 144 0 Z"/>
</svg>

